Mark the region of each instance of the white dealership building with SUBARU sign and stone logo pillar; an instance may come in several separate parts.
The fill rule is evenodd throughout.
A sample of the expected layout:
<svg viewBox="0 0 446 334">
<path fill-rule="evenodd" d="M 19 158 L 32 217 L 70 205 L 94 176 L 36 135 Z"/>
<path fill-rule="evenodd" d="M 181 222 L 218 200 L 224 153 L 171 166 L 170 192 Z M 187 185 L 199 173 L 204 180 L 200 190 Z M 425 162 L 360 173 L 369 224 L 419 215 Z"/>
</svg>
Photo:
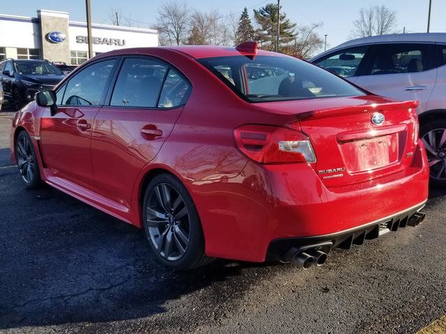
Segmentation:
<svg viewBox="0 0 446 334">
<path fill-rule="evenodd" d="M 3 58 L 60 61 L 79 65 L 88 58 L 85 22 L 70 21 L 66 12 L 40 9 L 37 17 L 0 14 L 0 60 Z M 92 24 L 93 56 L 126 47 L 156 47 L 153 29 Z"/>
</svg>

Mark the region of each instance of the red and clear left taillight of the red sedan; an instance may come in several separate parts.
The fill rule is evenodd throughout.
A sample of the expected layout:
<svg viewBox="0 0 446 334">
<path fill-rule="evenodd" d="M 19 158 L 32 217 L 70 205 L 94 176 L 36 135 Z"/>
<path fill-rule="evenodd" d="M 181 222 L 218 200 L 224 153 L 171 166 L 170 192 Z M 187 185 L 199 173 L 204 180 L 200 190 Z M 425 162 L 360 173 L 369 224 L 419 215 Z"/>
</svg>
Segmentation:
<svg viewBox="0 0 446 334">
<path fill-rule="evenodd" d="M 234 130 L 238 149 L 261 164 L 316 162 L 309 138 L 302 132 L 272 125 L 243 125 Z"/>
</svg>

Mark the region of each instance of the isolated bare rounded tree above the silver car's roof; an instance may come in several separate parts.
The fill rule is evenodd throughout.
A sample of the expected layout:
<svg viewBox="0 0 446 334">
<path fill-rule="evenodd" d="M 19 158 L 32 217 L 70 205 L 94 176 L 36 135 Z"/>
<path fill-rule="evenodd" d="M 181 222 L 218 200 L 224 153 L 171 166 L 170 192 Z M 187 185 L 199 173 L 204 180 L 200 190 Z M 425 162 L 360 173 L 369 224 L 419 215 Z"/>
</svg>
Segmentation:
<svg viewBox="0 0 446 334">
<path fill-rule="evenodd" d="M 392 33 L 397 24 L 397 12 L 386 6 L 361 8 L 360 18 L 353 21 L 353 37 L 368 37 Z"/>
</svg>

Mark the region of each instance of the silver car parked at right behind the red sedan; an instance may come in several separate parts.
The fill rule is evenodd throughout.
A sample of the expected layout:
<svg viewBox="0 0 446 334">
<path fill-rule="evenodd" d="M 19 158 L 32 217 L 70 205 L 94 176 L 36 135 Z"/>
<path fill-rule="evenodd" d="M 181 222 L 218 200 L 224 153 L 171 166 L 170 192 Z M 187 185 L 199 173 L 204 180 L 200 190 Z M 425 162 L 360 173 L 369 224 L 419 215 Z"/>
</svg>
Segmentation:
<svg viewBox="0 0 446 334">
<path fill-rule="evenodd" d="M 359 38 L 314 57 L 312 63 L 372 93 L 418 100 L 431 182 L 446 186 L 446 33 Z"/>
</svg>

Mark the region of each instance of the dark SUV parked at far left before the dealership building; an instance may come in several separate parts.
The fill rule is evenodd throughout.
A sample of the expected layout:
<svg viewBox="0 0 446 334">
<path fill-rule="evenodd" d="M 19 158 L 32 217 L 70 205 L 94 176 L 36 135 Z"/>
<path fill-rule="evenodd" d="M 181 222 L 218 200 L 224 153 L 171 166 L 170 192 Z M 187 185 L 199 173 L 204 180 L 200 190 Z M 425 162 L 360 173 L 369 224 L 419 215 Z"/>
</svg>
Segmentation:
<svg viewBox="0 0 446 334">
<path fill-rule="evenodd" d="M 49 61 L 8 58 L 0 63 L 1 86 L 15 110 L 33 101 L 38 91 L 54 88 L 64 77 Z"/>
</svg>

